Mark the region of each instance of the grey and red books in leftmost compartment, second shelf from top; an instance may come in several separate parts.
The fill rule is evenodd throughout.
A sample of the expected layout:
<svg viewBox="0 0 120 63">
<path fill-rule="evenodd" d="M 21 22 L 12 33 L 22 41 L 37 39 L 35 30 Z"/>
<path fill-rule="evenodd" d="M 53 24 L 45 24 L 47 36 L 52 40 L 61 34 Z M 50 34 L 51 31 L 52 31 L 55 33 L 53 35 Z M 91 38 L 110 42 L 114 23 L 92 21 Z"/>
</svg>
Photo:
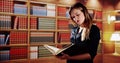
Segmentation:
<svg viewBox="0 0 120 63">
<path fill-rule="evenodd" d="M 0 29 L 27 29 L 28 19 L 26 16 L 0 15 Z"/>
</svg>

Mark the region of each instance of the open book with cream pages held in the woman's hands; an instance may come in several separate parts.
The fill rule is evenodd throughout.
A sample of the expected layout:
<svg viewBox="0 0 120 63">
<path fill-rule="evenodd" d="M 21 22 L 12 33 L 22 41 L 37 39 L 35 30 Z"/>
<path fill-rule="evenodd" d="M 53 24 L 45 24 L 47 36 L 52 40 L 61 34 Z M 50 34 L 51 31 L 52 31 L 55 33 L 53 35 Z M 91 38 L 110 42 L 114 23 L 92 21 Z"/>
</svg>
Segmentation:
<svg viewBox="0 0 120 63">
<path fill-rule="evenodd" d="M 62 53 L 66 53 L 66 54 L 70 53 L 70 50 L 72 48 L 74 48 L 73 46 L 74 46 L 74 44 L 70 44 L 66 48 L 59 49 L 57 47 L 50 46 L 50 45 L 47 45 L 47 44 L 44 45 L 44 47 L 46 49 L 48 49 L 53 55 L 56 55 L 56 56 L 62 56 Z"/>
</svg>

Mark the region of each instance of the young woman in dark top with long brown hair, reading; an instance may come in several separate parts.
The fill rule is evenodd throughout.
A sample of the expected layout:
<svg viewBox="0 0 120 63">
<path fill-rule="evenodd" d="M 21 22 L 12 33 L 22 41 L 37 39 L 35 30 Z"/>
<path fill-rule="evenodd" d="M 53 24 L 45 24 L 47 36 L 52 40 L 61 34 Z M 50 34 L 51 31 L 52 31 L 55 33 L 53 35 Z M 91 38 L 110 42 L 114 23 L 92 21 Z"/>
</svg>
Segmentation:
<svg viewBox="0 0 120 63">
<path fill-rule="evenodd" d="M 93 63 L 100 40 L 100 30 L 92 24 L 92 18 L 83 4 L 74 4 L 70 8 L 69 14 L 77 25 L 71 30 L 70 39 L 82 53 L 75 52 L 74 55 L 63 53 L 58 58 L 66 59 L 67 63 Z"/>
</svg>

